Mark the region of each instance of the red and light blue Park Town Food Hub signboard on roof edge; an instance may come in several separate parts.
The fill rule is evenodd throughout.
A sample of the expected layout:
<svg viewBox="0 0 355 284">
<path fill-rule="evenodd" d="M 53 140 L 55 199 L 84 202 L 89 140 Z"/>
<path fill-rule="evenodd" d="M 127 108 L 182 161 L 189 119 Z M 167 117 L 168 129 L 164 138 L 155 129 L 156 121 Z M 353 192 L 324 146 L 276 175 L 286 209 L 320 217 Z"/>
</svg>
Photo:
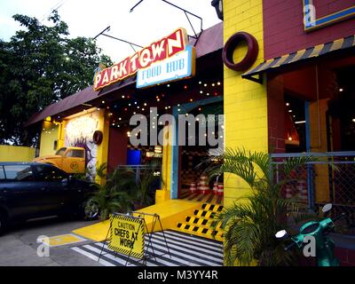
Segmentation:
<svg viewBox="0 0 355 284">
<path fill-rule="evenodd" d="M 137 88 L 168 83 L 194 75 L 195 50 L 184 28 L 95 75 L 94 90 L 137 74 Z"/>
</svg>

